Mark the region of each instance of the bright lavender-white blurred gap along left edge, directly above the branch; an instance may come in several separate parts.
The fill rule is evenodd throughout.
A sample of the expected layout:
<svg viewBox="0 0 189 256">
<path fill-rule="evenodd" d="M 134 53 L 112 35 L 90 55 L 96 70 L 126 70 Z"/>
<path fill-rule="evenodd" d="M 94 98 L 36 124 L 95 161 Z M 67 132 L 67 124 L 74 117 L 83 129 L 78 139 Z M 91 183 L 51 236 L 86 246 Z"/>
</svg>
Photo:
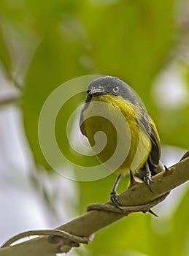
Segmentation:
<svg viewBox="0 0 189 256">
<path fill-rule="evenodd" d="M 0 110 L 0 228 L 2 243 L 16 233 L 44 228 L 39 197 L 31 189 L 27 170 L 31 159 L 23 142 L 15 108 Z"/>
</svg>

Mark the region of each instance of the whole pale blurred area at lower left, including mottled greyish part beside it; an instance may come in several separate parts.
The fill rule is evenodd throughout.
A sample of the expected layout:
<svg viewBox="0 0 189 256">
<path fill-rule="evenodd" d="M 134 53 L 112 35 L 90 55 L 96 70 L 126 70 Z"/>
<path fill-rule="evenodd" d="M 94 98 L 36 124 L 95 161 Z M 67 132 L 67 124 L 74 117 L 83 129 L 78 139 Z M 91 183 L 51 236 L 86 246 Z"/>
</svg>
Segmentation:
<svg viewBox="0 0 189 256">
<path fill-rule="evenodd" d="M 0 244 L 26 230 L 62 225 L 78 214 L 77 184 L 55 172 L 36 171 L 22 122 L 19 108 L 0 108 Z"/>
</svg>

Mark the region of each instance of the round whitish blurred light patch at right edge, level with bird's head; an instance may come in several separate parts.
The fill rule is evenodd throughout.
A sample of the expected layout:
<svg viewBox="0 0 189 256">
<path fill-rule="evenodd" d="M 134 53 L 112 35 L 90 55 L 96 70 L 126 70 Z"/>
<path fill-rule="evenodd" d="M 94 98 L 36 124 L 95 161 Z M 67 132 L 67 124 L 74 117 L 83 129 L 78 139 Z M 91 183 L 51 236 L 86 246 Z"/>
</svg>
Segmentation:
<svg viewBox="0 0 189 256">
<path fill-rule="evenodd" d="M 153 100 L 158 108 L 177 110 L 189 104 L 187 70 L 180 64 L 163 69 L 153 83 Z"/>
</svg>

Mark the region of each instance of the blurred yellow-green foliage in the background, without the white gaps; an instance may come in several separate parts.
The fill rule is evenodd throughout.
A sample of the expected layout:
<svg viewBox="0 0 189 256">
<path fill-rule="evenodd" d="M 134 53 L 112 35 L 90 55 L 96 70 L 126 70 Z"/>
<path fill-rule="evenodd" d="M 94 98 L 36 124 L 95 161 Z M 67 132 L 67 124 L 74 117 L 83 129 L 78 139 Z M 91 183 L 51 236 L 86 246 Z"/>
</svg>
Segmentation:
<svg viewBox="0 0 189 256">
<path fill-rule="evenodd" d="M 183 65 L 189 84 L 188 64 L 182 50 L 178 50 L 180 41 L 182 45 L 188 43 L 184 42 L 186 32 L 180 24 L 176 26 L 174 17 L 180 2 L 1 0 L 1 66 L 7 78 L 21 85 L 23 123 L 37 165 L 51 170 L 38 139 L 42 105 L 61 83 L 82 75 L 115 75 L 125 80 L 155 119 L 163 143 L 188 148 L 189 105 L 160 108 L 152 98 L 156 76 L 171 62 Z M 183 10 L 184 4 L 185 1 Z M 166 97 L 169 99 L 169 94 Z M 73 152 L 65 138 L 67 120 L 84 99 L 84 93 L 78 94 L 63 106 L 57 116 L 55 136 L 69 161 L 88 166 L 91 162 L 96 164 L 96 159 Z M 126 180 L 121 182 L 120 191 L 126 187 Z M 114 181 L 112 175 L 99 181 L 78 182 L 80 213 L 88 203 L 108 200 Z M 76 252 L 78 255 L 188 255 L 187 198 L 188 194 L 180 208 L 165 220 L 170 225 L 167 232 L 155 232 L 149 214 L 132 214 L 101 230 L 86 252 L 80 249 Z"/>
</svg>

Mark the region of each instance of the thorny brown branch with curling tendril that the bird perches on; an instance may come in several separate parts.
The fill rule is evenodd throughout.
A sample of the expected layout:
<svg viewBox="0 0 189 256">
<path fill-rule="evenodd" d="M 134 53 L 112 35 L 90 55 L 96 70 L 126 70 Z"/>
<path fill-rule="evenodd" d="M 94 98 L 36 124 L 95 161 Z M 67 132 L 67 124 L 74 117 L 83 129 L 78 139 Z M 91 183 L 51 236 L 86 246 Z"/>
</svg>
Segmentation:
<svg viewBox="0 0 189 256">
<path fill-rule="evenodd" d="M 123 206 L 121 210 L 112 206 L 111 202 L 102 205 L 90 205 L 88 206 L 88 212 L 86 214 L 54 230 L 63 231 L 63 233 L 66 233 L 65 236 L 63 233 L 58 234 L 58 236 L 56 234 L 55 236 L 46 235 L 15 246 L 9 246 L 8 241 L 5 244 L 6 246 L 0 249 L 0 256 L 53 256 L 58 252 L 69 252 L 73 246 L 80 245 L 81 238 L 83 239 L 83 243 L 88 243 L 88 241 L 92 240 L 93 233 L 110 225 L 112 222 L 116 222 L 118 219 L 125 217 L 131 212 L 150 211 L 151 207 L 166 198 L 171 189 L 180 186 L 188 180 L 189 151 L 182 157 L 181 162 L 153 176 L 153 182 L 151 184 L 153 192 L 150 192 L 150 189 L 142 182 L 134 184 L 129 187 L 126 192 L 119 195 L 118 199 Z M 31 234 L 34 235 L 34 232 L 35 231 L 32 231 Z M 29 235 L 29 232 L 27 232 L 26 236 Z M 43 235 L 45 235 L 45 233 L 43 233 Z"/>
</svg>

